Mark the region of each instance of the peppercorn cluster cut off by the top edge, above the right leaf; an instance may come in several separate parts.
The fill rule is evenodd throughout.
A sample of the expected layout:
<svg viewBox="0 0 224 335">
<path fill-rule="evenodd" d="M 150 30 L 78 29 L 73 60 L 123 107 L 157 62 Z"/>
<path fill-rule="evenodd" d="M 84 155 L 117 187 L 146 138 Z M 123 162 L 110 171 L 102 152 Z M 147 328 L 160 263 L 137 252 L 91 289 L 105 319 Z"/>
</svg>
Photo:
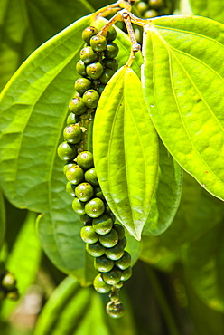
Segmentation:
<svg viewBox="0 0 224 335">
<path fill-rule="evenodd" d="M 136 0 L 135 8 L 145 19 L 171 15 L 174 10 L 174 0 Z"/>
</svg>

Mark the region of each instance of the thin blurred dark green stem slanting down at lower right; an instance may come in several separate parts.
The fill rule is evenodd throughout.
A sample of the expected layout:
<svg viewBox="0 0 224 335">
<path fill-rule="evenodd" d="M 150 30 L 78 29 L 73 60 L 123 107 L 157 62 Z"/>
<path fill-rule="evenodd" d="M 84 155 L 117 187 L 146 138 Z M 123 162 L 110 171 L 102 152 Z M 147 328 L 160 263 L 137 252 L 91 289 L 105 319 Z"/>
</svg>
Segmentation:
<svg viewBox="0 0 224 335">
<path fill-rule="evenodd" d="M 170 335 L 179 335 L 179 331 L 174 321 L 173 314 L 170 310 L 168 302 L 166 301 L 163 290 L 158 282 L 154 270 L 148 264 L 145 264 L 145 272 L 147 273 L 148 279 L 157 298 L 157 302 L 159 303 L 160 309 L 163 313 L 163 318 L 166 322 Z"/>
</svg>

